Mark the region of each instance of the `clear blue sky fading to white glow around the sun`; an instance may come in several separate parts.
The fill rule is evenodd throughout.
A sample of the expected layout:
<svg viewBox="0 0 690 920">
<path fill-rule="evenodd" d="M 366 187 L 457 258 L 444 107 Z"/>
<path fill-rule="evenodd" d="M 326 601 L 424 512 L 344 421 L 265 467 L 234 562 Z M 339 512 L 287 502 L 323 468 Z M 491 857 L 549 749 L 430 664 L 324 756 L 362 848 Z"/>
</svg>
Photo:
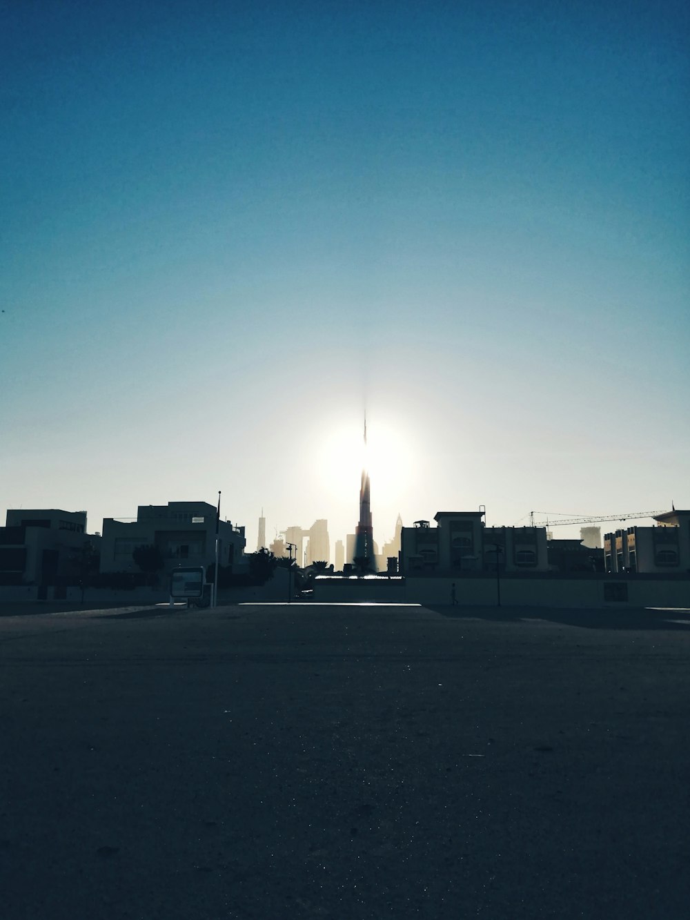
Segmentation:
<svg viewBox="0 0 690 920">
<path fill-rule="evenodd" d="M 689 21 L 6 9 L 0 507 L 223 489 L 250 548 L 261 506 L 344 539 L 365 404 L 378 540 L 688 507 Z"/>
</svg>

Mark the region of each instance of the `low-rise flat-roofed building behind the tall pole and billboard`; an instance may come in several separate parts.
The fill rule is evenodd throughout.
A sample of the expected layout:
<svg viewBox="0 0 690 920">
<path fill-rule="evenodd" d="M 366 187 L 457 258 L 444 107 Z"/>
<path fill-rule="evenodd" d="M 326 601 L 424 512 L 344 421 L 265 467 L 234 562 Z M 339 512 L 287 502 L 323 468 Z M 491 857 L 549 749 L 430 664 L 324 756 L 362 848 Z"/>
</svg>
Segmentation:
<svg viewBox="0 0 690 920">
<path fill-rule="evenodd" d="M 164 571 L 179 566 L 212 565 L 215 561 L 217 512 L 207 501 L 168 501 L 167 505 L 140 505 L 136 521 L 103 519 L 101 572 L 139 571 L 132 553 L 138 546 L 155 546 Z M 236 569 L 244 556 L 245 528 L 218 522 L 218 560 Z"/>
</svg>

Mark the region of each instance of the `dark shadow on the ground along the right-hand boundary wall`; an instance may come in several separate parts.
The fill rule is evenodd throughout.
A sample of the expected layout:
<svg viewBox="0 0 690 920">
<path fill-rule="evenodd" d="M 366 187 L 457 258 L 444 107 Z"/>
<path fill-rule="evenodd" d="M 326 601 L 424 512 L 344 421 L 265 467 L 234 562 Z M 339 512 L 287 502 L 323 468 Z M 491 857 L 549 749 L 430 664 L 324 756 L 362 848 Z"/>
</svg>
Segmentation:
<svg viewBox="0 0 690 920">
<path fill-rule="evenodd" d="M 521 620 L 546 620 L 585 629 L 661 629 L 685 632 L 690 629 L 690 608 L 655 609 L 651 607 L 464 607 L 459 604 L 423 604 L 427 610 L 453 619 L 482 619 L 503 623 Z"/>
</svg>

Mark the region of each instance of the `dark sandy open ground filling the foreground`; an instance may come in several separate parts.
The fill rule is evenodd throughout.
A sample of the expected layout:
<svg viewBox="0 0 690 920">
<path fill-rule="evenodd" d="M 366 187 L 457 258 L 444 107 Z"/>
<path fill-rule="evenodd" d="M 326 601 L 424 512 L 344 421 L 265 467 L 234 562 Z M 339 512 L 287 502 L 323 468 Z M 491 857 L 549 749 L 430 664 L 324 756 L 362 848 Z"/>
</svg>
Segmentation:
<svg viewBox="0 0 690 920">
<path fill-rule="evenodd" d="M 688 617 L 538 615 L 0 619 L 0 914 L 687 916 Z"/>
</svg>

